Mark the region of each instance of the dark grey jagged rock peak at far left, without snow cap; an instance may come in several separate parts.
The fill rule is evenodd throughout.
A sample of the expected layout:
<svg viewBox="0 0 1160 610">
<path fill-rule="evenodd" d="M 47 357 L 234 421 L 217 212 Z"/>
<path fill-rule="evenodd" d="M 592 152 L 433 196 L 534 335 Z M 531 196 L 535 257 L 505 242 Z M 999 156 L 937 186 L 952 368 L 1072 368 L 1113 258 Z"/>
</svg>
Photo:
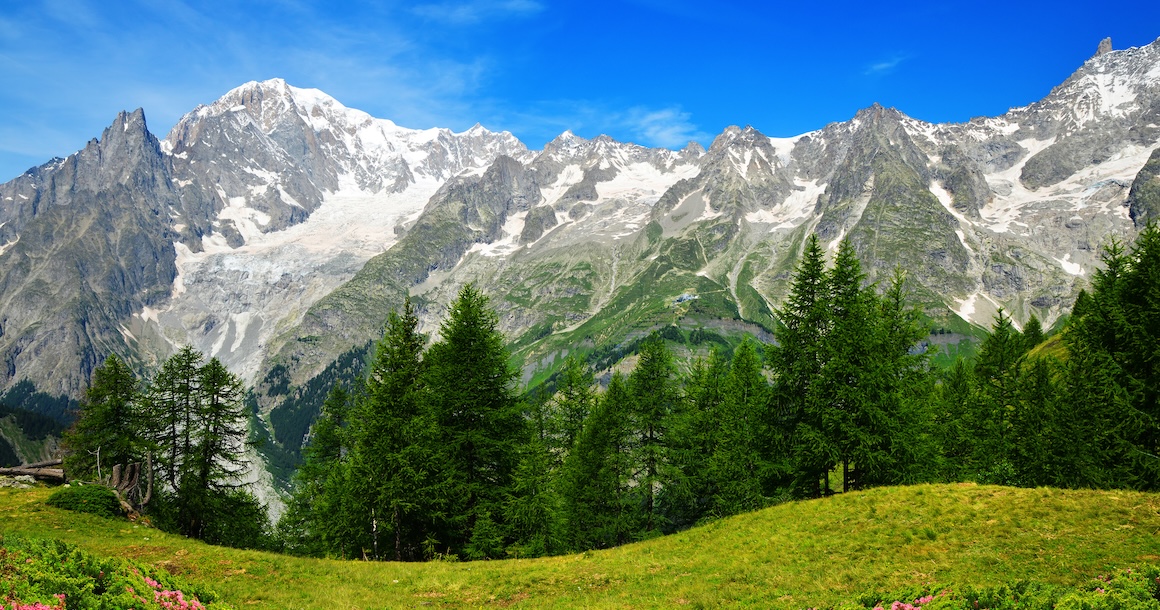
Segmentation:
<svg viewBox="0 0 1160 610">
<path fill-rule="evenodd" d="M 162 303 L 183 213 L 140 110 L 100 140 L 0 186 L 0 384 L 78 395 L 125 346 L 124 322 Z"/>
</svg>

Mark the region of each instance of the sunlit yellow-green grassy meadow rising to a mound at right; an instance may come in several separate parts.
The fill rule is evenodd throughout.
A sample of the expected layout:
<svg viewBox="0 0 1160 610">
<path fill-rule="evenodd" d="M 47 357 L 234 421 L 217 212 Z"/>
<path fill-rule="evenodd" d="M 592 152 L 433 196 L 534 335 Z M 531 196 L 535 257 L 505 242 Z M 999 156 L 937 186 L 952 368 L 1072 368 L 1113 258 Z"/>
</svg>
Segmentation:
<svg viewBox="0 0 1160 610">
<path fill-rule="evenodd" d="M 834 605 L 927 583 L 1080 584 L 1160 562 L 1160 495 L 976 485 L 793 502 L 609 551 L 380 564 L 213 547 L 0 489 L 0 532 L 130 557 L 238 608 Z"/>
</svg>

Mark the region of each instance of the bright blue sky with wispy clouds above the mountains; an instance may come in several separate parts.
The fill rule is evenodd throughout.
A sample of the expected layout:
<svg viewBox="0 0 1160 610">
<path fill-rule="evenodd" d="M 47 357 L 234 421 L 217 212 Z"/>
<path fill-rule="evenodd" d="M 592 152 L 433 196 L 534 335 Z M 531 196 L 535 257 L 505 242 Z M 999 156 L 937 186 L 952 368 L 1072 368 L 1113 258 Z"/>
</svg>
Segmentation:
<svg viewBox="0 0 1160 610">
<path fill-rule="evenodd" d="M 1160 37 L 1160 2 L 0 0 L 0 181 L 145 109 L 249 80 L 316 87 L 408 128 L 476 122 L 708 145 L 793 136 L 879 102 L 965 121 L 1036 101 L 1090 57 Z"/>
</svg>

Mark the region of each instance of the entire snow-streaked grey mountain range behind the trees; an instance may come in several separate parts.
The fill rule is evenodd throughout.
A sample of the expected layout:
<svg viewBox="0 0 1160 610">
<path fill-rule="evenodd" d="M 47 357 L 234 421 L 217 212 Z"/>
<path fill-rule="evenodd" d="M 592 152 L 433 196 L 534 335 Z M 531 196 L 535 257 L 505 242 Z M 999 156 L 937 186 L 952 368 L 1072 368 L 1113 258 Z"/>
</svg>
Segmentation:
<svg viewBox="0 0 1160 610">
<path fill-rule="evenodd" d="M 1100 246 L 1160 210 L 1160 42 L 1104 48 L 999 117 L 873 106 L 795 138 L 728 128 L 708 151 L 565 132 L 529 152 L 281 80 L 164 141 L 122 115 L 0 186 L 0 385 L 75 394 L 109 351 L 147 369 L 191 343 L 274 408 L 267 385 L 377 336 L 407 293 L 437 331 L 466 282 L 530 376 L 659 325 L 769 327 L 810 232 L 849 239 L 872 279 L 904 269 L 935 320 L 1051 324 Z"/>
</svg>

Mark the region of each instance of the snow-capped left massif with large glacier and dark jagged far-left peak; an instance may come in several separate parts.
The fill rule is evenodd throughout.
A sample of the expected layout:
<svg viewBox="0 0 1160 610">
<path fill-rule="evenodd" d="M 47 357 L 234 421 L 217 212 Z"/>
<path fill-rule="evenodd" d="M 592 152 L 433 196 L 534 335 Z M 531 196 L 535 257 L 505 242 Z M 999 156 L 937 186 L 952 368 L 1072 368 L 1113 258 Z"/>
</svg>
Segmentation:
<svg viewBox="0 0 1160 610">
<path fill-rule="evenodd" d="M 110 353 L 148 370 L 187 343 L 252 378 L 276 326 L 390 246 L 443 181 L 524 152 L 281 80 L 197 108 L 165 140 L 124 112 L 0 186 L 0 387 L 75 398 Z"/>
</svg>

